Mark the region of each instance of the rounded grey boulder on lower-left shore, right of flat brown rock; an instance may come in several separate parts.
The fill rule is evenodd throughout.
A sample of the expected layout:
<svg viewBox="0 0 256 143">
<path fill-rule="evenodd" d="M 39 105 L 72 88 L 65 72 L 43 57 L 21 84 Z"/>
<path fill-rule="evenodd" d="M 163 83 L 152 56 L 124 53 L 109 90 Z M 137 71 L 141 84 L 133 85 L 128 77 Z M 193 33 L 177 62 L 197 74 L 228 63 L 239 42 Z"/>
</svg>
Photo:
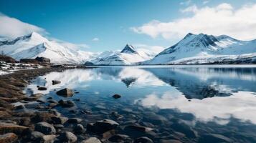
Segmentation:
<svg viewBox="0 0 256 143">
<path fill-rule="evenodd" d="M 42 132 L 44 134 L 55 134 L 56 130 L 52 126 L 52 124 L 48 124 L 47 122 L 39 122 L 34 127 L 35 131 Z"/>
</svg>

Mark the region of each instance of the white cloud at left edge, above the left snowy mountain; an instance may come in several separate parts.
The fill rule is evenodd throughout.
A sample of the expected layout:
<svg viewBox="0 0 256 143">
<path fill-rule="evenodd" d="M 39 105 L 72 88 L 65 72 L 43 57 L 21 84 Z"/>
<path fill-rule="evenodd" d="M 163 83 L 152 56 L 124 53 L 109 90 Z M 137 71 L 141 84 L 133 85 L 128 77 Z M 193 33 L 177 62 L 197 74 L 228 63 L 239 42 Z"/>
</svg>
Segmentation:
<svg viewBox="0 0 256 143">
<path fill-rule="evenodd" d="M 47 34 L 41 27 L 22 22 L 19 19 L 11 18 L 0 13 L 0 36 L 15 38 L 17 36 L 30 34 L 32 31 Z"/>
</svg>

